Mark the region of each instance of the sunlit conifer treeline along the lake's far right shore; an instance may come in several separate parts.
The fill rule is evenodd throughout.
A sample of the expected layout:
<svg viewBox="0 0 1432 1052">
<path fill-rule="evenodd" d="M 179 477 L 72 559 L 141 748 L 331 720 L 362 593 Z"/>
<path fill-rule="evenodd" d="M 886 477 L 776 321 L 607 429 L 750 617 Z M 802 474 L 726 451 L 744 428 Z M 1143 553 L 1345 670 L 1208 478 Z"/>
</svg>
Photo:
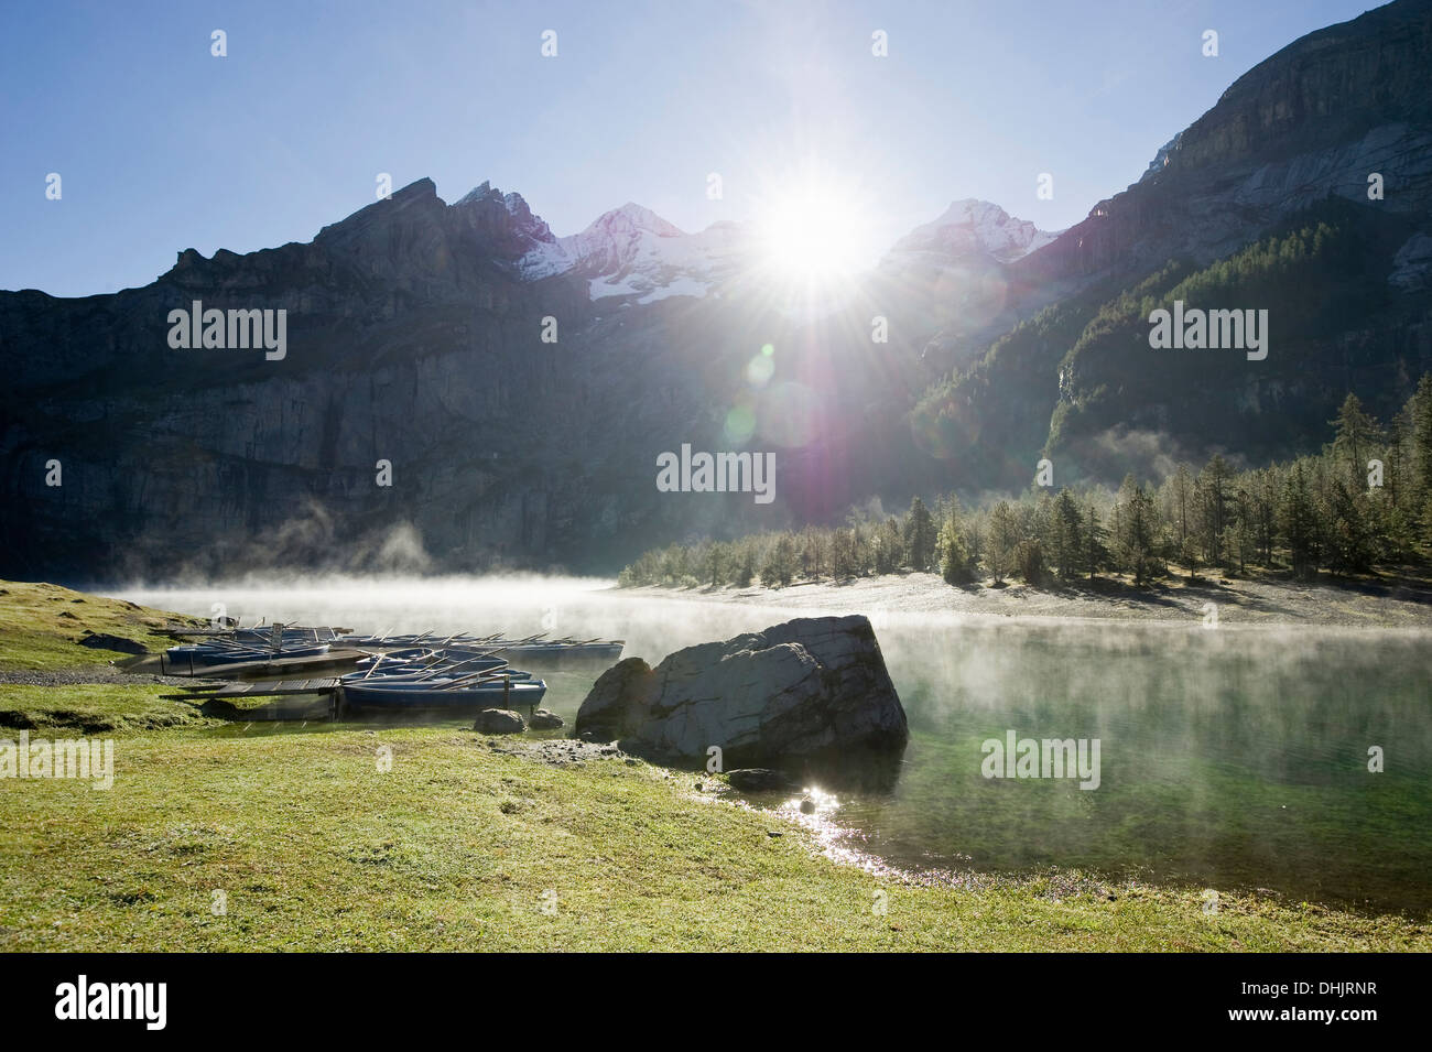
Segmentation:
<svg viewBox="0 0 1432 1052">
<path fill-rule="evenodd" d="M 1133 475 L 1117 492 L 1035 485 L 972 508 L 952 494 L 932 507 L 915 497 L 902 515 L 866 507 L 842 527 L 656 548 L 619 581 L 785 587 L 918 570 L 957 585 L 1111 573 L 1146 587 L 1171 565 L 1190 578 L 1286 571 L 1309 580 L 1432 562 L 1432 375 L 1386 424 L 1349 394 L 1329 425 L 1322 452 L 1286 464 L 1240 471 L 1216 455 L 1197 469 L 1177 465 L 1157 485 Z"/>
</svg>

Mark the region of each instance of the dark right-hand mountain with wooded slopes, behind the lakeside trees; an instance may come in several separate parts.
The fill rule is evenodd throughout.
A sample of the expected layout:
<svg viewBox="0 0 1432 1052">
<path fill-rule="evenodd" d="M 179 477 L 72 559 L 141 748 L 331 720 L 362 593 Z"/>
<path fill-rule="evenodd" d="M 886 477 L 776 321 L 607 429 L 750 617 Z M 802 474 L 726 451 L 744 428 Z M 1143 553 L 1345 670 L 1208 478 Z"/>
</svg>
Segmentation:
<svg viewBox="0 0 1432 1052">
<path fill-rule="evenodd" d="M 1257 462 L 1323 441 L 1350 389 L 1382 414 L 1400 405 L 1432 369 L 1429 62 L 1432 3 L 1400 0 L 1240 77 L 1137 183 L 1008 268 L 995 325 L 937 338 L 968 375 L 927 395 L 922 448 L 975 465 L 1012 459 L 1025 472 L 1053 455 L 1064 478 L 1117 481 L 1156 467 L 1130 452 L 1130 434 L 1157 437 L 1163 462 L 1214 449 Z M 1154 352 L 1147 318 L 1118 302 L 1134 289 L 1157 301 L 1250 242 L 1319 222 L 1337 226 L 1342 248 L 1299 271 L 1306 285 L 1289 286 L 1286 273 L 1279 283 L 1279 266 L 1246 281 L 1206 273 L 1199 285 L 1211 299 L 1197 306 L 1270 309 L 1263 361 Z M 1171 260 L 1177 273 L 1156 279 Z M 1001 344 L 1008 313 L 1055 305 Z M 972 481 L 1010 485 L 1007 474 Z"/>
</svg>

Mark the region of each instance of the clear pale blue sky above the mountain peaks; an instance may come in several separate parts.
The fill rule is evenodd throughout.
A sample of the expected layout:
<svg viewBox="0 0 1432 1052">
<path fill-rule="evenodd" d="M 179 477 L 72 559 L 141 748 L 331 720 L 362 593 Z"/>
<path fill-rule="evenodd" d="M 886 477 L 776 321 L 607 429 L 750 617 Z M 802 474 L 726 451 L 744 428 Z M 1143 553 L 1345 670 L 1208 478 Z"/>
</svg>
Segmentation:
<svg viewBox="0 0 1432 1052">
<path fill-rule="evenodd" d="M 816 172 L 872 262 L 958 198 L 1061 229 L 1242 73 L 1369 6 L 7 3 L 0 289 L 113 292 L 185 248 L 308 240 L 379 172 L 448 202 L 491 180 L 557 235 L 627 200 L 686 230 L 749 219 Z"/>
</svg>

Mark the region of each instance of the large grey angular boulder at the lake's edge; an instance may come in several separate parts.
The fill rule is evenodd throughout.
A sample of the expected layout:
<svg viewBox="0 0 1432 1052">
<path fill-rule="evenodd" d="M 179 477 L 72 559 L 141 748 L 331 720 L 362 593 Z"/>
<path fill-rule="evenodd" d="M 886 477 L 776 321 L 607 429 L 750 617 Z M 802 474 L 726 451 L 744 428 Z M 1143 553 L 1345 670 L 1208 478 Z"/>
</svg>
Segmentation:
<svg viewBox="0 0 1432 1052">
<path fill-rule="evenodd" d="M 717 746 L 727 769 L 892 753 L 909 737 L 861 614 L 686 647 L 656 668 L 629 657 L 593 684 L 574 731 L 666 759 L 705 760 Z"/>
</svg>

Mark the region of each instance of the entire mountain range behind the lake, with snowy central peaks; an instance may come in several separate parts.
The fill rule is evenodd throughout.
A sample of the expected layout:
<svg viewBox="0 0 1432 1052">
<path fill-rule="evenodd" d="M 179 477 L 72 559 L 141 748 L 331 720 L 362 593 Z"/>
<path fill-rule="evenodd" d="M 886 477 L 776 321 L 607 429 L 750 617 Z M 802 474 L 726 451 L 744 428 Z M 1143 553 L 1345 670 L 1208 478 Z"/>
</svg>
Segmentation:
<svg viewBox="0 0 1432 1052">
<path fill-rule="evenodd" d="M 411 552 L 600 573 L 673 538 L 839 521 L 872 497 L 1022 488 L 1041 455 L 1061 484 L 1117 481 L 1153 462 L 1141 435 L 1290 455 L 1346 391 L 1393 404 L 1432 369 L 1432 89 L 1405 73 L 1432 54 L 1432 4 L 1310 37 L 1051 240 L 1018 252 L 1040 232 L 957 200 L 818 318 L 782 312 L 737 265 L 739 226 L 670 233 L 629 203 L 564 248 L 521 195 L 483 183 L 448 205 L 431 179 L 311 242 L 186 249 L 136 289 L 0 293 L 0 571 Z M 1309 248 L 1282 268 L 1290 238 Z M 1151 356 L 1141 298 L 1183 282 L 1227 301 L 1213 306 L 1272 303 L 1267 361 Z M 1282 316 L 1303 289 L 1326 309 Z M 193 301 L 288 311 L 286 358 L 170 349 L 166 315 Z M 776 451 L 778 501 L 659 494 L 656 457 L 684 442 Z M 44 482 L 52 459 L 62 487 Z"/>
</svg>

